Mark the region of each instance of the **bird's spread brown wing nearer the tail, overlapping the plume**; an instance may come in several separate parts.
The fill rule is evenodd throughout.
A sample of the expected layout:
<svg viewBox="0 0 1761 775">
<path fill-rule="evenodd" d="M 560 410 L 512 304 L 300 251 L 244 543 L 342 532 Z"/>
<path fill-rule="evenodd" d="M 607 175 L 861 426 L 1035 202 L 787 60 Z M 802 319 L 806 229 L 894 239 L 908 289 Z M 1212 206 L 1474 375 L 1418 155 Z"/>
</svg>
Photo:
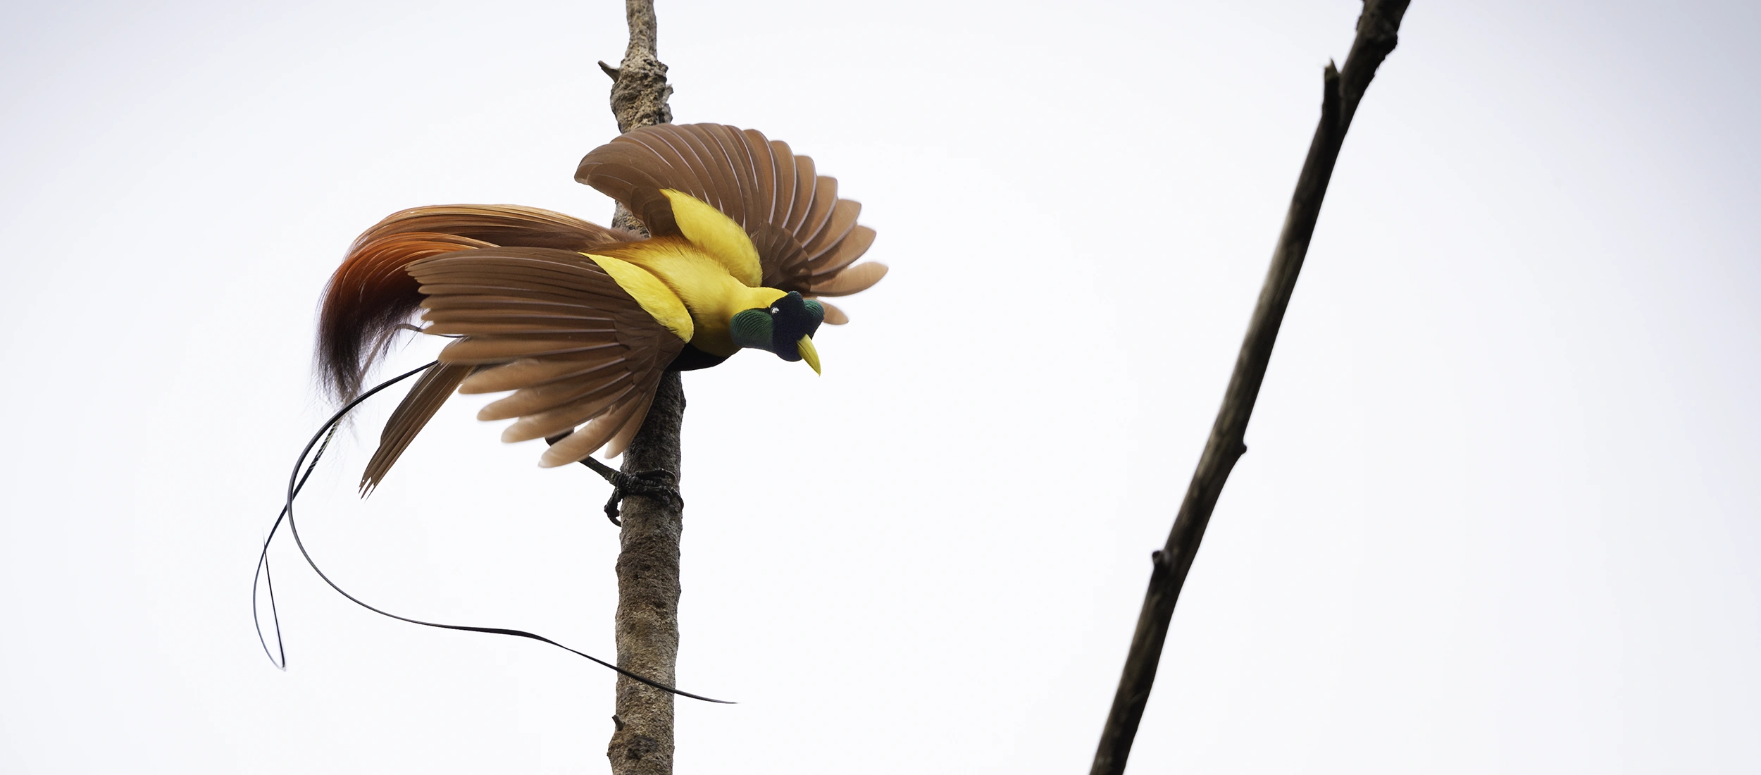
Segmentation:
<svg viewBox="0 0 1761 775">
<path fill-rule="evenodd" d="M 440 351 L 442 365 L 475 368 L 460 393 L 514 391 L 477 419 L 518 417 L 504 442 L 574 430 L 539 465 L 567 465 L 601 447 L 608 458 L 622 453 L 660 373 L 685 347 L 660 322 L 683 314 L 676 296 L 655 298 L 648 287 L 637 299 L 578 252 L 461 250 L 416 261 L 409 271 L 421 282 L 424 331 L 463 335 Z"/>
</svg>

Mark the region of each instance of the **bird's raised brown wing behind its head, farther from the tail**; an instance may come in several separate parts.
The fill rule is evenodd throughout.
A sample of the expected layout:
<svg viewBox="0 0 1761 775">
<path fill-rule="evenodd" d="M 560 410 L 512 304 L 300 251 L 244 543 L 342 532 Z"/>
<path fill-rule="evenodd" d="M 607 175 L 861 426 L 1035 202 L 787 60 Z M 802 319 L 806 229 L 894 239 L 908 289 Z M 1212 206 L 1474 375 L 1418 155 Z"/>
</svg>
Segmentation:
<svg viewBox="0 0 1761 775">
<path fill-rule="evenodd" d="M 875 240 L 856 224 L 861 204 L 838 199 L 838 181 L 812 159 L 755 129 L 641 127 L 588 151 L 574 180 L 623 203 L 653 236 L 683 236 L 662 190 L 708 203 L 745 229 L 764 287 L 847 296 L 886 275 L 877 262 L 851 266 Z"/>
</svg>

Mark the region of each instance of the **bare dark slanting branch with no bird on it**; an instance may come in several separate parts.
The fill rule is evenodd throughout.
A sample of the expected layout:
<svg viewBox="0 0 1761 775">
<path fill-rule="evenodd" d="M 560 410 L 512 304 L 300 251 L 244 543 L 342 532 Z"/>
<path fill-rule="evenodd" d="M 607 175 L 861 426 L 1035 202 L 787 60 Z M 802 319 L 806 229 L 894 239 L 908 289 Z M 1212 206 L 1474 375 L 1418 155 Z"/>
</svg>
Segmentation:
<svg viewBox="0 0 1761 775">
<path fill-rule="evenodd" d="M 1229 479 L 1234 461 L 1247 453 L 1243 440 L 1247 421 L 1259 398 L 1259 386 L 1266 377 L 1266 365 L 1271 361 L 1271 345 L 1278 338 L 1284 310 L 1291 303 L 1291 292 L 1296 291 L 1296 275 L 1303 268 L 1303 257 L 1308 255 L 1308 240 L 1321 217 L 1321 199 L 1333 176 L 1333 162 L 1338 160 L 1345 130 L 1351 127 L 1363 92 L 1375 78 L 1375 69 L 1395 49 L 1400 18 L 1405 14 L 1407 4 L 1409 0 L 1365 0 L 1363 14 L 1358 18 L 1358 37 L 1345 56 L 1345 69 L 1335 70 L 1331 63 L 1326 67 L 1321 123 L 1308 144 L 1303 171 L 1296 178 L 1296 192 L 1291 196 L 1278 245 L 1271 252 L 1271 268 L 1266 271 L 1266 284 L 1259 291 L 1259 303 L 1249 321 L 1247 338 L 1242 342 L 1240 356 L 1236 356 L 1229 389 L 1224 391 L 1222 409 L 1217 410 L 1217 423 L 1205 442 L 1205 453 L 1199 456 L 1197 470 L 1192 472 L 1187 495 L 1180 502 L 1180 514 L 1175 516 L 1168 544 L 1150 555 L 1150 588 L 1143 597 L 1138 629 L 1131 638 L 1125 669 L 1118 680 L 1118 692 L 1113 696 L 1113 710 L 1101 729 L 1101 745 L 1095 749 L 1090 775 L 1125 771 L 1131 743 L 1138 736 L 1138 724 L 1143 720 L 1143 708 L 1148 705 L 1150 689 L 1155 683 L 1162 645 L 1168 641 L 1168 624 L 1175 615 L 1175 601 L 1180 599 L 1187 571 L 1192 569 L 1199 541 L 1205 539 L 1205 527 L 1210 525 L 1212 509 L 1217 506 L 1217 497 L 1222 495 L 1222 484 Z"/>
</svg>

